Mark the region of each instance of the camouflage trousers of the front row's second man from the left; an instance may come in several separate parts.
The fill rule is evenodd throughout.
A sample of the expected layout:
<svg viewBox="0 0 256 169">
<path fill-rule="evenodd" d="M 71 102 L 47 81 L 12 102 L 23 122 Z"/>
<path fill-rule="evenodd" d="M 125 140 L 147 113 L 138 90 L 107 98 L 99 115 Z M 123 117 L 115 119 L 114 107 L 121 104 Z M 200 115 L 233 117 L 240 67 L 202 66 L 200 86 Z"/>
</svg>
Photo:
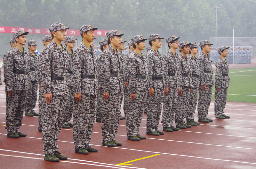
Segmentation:
<svg viewBox="0 0 256 169">
<path fill-rule="evenodd" d="M 89 148 L 96 113 L 96 95 L 82 93 L 80 102 L 74 103 L 73 140 L 75 151 Z"/>
</svg>

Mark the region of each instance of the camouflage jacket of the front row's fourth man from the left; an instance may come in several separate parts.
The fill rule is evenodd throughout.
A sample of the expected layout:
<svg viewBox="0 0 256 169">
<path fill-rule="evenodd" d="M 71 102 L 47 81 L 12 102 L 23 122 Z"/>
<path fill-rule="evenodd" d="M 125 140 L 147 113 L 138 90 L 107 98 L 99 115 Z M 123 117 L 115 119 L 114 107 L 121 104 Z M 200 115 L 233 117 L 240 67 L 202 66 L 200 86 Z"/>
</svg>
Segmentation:
<svg viewBox="0 0 256 169">
<path fill-rule="evenodd" d="M 131 94 L 136 94 L 137 91 L 148 91 L 148 79 L 136 78 L 136 75 L 148 76 L 148 64 L 145 60 L 145 55 L 142 57 L 136 52 L 132 52 L 127 61 L 127 79 Z"/>
</svg>

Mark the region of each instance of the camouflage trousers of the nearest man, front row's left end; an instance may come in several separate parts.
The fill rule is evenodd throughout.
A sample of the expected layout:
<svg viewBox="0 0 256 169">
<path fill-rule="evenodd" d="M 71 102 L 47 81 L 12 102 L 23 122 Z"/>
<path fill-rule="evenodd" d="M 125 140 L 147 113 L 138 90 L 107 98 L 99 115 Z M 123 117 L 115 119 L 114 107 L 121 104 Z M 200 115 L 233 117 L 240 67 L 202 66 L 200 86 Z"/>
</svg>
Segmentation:
<svg viewBox="0 0 256 169">
<path fill-rule="evenodd" d="M 45 100 L 45 99 L 44 99 Z M 58 136 L 63 121 L 63 112 L 65 110 L 66 97 L 52 96 L 50 104 L 43 103 L 44 118 L 42 123 L 42 140 L 44 154 L 53 155 L 57 151 Z"/>
</svg>

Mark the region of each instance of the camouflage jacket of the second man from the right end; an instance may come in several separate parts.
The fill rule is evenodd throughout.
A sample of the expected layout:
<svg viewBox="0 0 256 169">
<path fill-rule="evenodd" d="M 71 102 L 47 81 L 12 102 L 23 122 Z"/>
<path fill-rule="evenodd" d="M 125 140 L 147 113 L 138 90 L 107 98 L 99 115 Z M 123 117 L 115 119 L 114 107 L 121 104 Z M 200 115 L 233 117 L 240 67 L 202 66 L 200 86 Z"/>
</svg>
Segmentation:
<svg viewBox="0 0 256 169">
<path fill-rule="evenodd" d="M 212 73 L 212 62 L 208 55 L 201 52 L 197 57 L 197 63 L 199 66 L 199 79 L 200 85 L 213 85 L 213 73 Z M 208 71 L 208 72 L 205 72 Z M 211 73 L 210 73 L 211 72 Z"/>
</svg>

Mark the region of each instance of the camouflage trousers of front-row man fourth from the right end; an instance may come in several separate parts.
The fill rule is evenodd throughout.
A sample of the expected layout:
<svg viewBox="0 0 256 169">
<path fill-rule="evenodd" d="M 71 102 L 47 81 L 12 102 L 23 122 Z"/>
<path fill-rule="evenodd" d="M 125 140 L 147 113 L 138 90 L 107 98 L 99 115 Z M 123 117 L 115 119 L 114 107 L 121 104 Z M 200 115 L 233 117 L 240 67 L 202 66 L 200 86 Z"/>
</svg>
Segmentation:
<svg viewBox="0 0 256 169">
<path fill-rule="evenodd" d="M 175 115 L 174 120 L 176 126 L 180 126 L 182 124 L 185 124 L 184 118 L 187 117 L 187 108 L 188 108 L 188 99 L 189 99 L 189 92 L 190 88 L 188 87 L 182 87 L 182 94 L 181 96 L 178 95 L 177 98 L 177 105 L 175 107 Z"/>
</svg>

